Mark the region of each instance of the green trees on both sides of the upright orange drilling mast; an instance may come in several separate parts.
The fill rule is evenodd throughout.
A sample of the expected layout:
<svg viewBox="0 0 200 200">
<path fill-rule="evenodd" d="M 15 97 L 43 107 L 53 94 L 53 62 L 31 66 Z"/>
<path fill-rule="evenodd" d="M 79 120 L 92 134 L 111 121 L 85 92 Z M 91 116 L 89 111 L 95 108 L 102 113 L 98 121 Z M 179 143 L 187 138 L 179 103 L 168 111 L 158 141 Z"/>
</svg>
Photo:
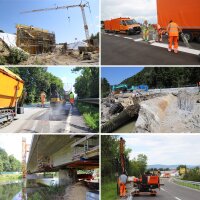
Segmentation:
<svg viewBox="0 0 200 200">
<path fill-rule="evenodd" d="M 126 171 L 130 176 L 139 177 L 147 169 L 147 156 L 139 154 L 137 158 L 130 159 L 132 149 L 125 147 Z M 119 162 L 119 139 L 117 136 L 104 135 L 101 137 L 101 174 L 102 181 L 115 179 L 115 174 L 122 173 Z"/>
</svg>

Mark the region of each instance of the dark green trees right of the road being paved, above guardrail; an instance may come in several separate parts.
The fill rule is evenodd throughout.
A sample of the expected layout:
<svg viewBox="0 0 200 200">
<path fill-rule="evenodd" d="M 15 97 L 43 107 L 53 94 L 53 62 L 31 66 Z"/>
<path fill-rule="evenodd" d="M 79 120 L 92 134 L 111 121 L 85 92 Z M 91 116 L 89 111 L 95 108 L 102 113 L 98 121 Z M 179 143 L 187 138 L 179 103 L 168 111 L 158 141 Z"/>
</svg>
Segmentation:
<svg viewBox="0 0 200 200">
<path fill-rule="evenodd" d="M 99 68 L 98 67 L 76 67 L 73 72 L 80 71 L 81 75 L 76 78 L 74 84 L 75 92 L 79 98 L 99 97 Z"/>
</svg>

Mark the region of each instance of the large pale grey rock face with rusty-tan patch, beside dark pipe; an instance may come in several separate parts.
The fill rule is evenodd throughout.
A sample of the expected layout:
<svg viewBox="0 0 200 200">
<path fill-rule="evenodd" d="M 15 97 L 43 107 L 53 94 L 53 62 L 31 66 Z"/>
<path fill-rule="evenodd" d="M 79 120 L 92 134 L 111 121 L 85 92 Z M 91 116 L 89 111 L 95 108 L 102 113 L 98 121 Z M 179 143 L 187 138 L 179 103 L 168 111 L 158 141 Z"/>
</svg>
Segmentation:
<svg viewBox="0 0 200 200">
<path fill-rule="evenodd" d="M 137 133 L 200 132 L 199 96 L 180 91 L 140 103 Z"/>
</svg>

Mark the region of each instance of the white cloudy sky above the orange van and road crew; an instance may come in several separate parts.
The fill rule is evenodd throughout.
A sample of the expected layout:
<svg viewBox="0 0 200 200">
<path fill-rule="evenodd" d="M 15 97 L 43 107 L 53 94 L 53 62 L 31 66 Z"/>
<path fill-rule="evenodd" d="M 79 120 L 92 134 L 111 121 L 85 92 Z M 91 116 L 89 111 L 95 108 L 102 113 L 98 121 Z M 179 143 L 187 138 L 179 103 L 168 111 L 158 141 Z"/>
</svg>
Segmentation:
<svg viewBox="0 0 200 200">
<path fill-rule="evenodd" d="M 138 22 L 147 19 L 157 22 L 156 0 L 102 0 L 102 20 L 116 17 L 130 17 Z"/>
</svg>

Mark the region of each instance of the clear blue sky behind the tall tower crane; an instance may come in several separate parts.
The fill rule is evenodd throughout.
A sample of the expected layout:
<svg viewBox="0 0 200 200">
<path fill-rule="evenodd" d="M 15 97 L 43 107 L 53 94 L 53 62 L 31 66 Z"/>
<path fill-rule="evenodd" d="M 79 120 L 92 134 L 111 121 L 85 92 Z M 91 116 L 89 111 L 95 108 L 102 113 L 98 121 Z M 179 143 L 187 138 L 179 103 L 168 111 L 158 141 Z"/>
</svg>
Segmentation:
<svg viewBox="0 0 200 200">
<path fill-rule="evenodd" d="M 99 0 L 87 0 L 91 13 L 85 8 L 89 32 L 99 32 Z M 20 14 L 22 11 L 63 5 L 80 4 L 81 0 L 0 0 L 0 29 L 16 33 L 16 24 L 33 25 L 55 32 L 57 43 L 85 40 L 83 19 L 79 7 L 55 11 Z M 83 0 L 84 2 L 84 0 Z M 68 18 L 70 17 L 70 18 Z"/>
</svg>

